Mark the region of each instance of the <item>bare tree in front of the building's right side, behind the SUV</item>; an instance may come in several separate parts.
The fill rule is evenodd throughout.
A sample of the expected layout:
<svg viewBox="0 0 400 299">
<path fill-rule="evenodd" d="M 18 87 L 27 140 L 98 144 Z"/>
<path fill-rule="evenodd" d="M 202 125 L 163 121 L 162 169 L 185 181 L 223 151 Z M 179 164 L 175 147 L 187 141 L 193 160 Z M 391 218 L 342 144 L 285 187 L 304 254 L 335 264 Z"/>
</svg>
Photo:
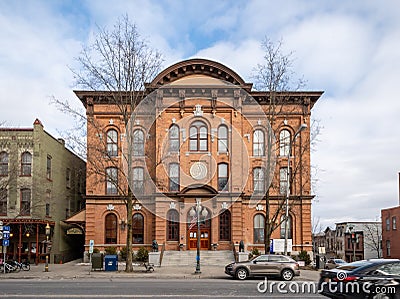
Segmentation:
<svg viewBox="0 0 400 299">
<path fill-rule="evenodd" d="M 267 167 L 269 169 L 266 170 L 267 175 L 272 175 L 275 169 L 271 169 L 273 167 L 272 160 L 274 159 L 274 151 L 276 149 L 276 145 L 273 144 L 273 136 L 276 136 L 276 142 L 279 142 L 278 132 L 281 130 L 281 125 L 277 123 L 278 119 L 282 119 L 283 117 L 290 116 L 293 113 L 297 113 L 295 111 L 295 107 L 290 107 L 287 102 L 288 93 L 292 91 L 298 91 L 300 88 L 305 86 L 305 81 L 303 78 L 299 78 L 294 80 L 295 73 L 293 71 L 293 52 L 283 53 L 282 40 L 277 43 L 272 42 L 268 37 L 266 37 L 262 41 L 262 49 L 264 51 L 264 59 L 261 64 L 258 64 L 254 69 L 254 81 L 255 87 L 258 90 L 267 91 L 268 94 L 266 96 L 268 108 L 266 111 L 268 120 L 270 122 L 272 132 L 267 134 Z M 311 130 L 311 129 L 310 129 Z M 299 157 L 301 157 L 306 151 L 310 150 L 309 145 L 312 144 L 312 140 L 316 139 L 319 134 L 319 128 L 313 129 L 313 134 L 307 135 L 305 137 L 307 140 L 303 139 L 302 144 L 307 144 L 307 147 L 300 147 L 297 152 Z M 291 138 L 291 137 L 289 137 Z M 296 145 L 295 140 L 289 140 L 289 146 L 294 147 Z M 290 170 L 290 175 L 288 174 L 288 183 L 292 185 L 294 182 L 294 178 L 296 177 L 296 173 L 307 171 L 304 169 L 301 158 L 300 161 L 297 161 L 294 164 L 294 167 Z M 301 174 L 301 173 L 300 173 Z M 305 176 L 307 177 L 307 176 Z M 273 180 L 271 178 L 267 178 L 267 180 L 272 183 L 269 185 L 265 194 L 265 204 L 266 204 L 266 223 L 265 223 L 265 251 L 269 252 L 270 250 L 270 239 L 271 235 L 275 229 L 277 229 L 284 221 L 286 221 L 286 217 L 281 217 L 285 211 L 286 203 L 285 196 L 286 194 L 281 194 L 283 196 L 273 196 L 271 197 L 272 190 L 279 190 L 279 186 L 274 185 L 274 182 L 279 182 L 279 179 Z M 303 185 L 310 182 L 302 182 Z M 300 187 L 302 188 L 302 186 Z M 277 192 L 279 194 L 279 191 Z M 292 198 L 291 198 L 292 199 Z M 295 200 L 290 201 L 289 210 L 294 205 Z M 274 209 L 271 208 L 273 203 Z"/>
</svg>

